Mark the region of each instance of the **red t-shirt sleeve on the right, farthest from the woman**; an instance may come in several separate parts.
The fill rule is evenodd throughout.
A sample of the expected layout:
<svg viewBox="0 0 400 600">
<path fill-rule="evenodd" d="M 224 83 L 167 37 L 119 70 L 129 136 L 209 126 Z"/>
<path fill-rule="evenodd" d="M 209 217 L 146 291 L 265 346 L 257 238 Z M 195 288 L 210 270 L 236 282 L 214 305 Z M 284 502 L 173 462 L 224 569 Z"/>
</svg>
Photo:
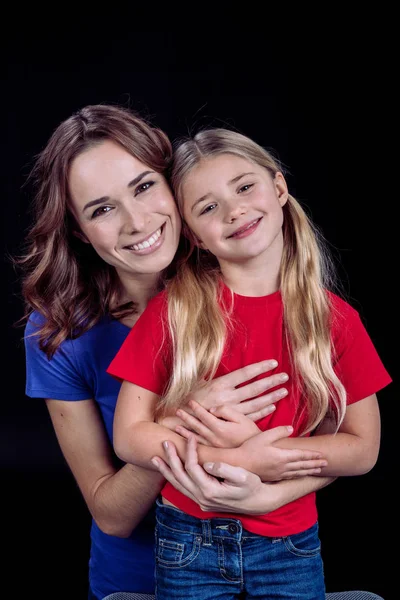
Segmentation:
<svg viewBox="0 0 400 600">
<path fill-rule="evenodd" d="M 368 335 L 358 312 L 335 299 L 333 345 L 335 372 L 347 392 L 347 404 L 375 394 L 391 377 Z"/>
</svg>

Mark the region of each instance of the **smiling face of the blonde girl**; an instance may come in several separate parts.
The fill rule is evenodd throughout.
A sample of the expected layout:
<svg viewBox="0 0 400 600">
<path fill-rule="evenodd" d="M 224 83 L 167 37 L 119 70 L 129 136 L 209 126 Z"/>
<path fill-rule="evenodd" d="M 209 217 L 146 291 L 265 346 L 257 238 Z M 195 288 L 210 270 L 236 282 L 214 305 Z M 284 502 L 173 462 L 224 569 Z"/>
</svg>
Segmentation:
<svg viewBox="0 0 400 600">
<path fill-rule="evenodd" d="M 282 173 L 273 178 L 233 154 L 202 160 L 182 186 L 183 216 L 196 243 L 224 263 L 256 257 L 280 261 L 282 206 L 288 190 Z"/>
</svg>

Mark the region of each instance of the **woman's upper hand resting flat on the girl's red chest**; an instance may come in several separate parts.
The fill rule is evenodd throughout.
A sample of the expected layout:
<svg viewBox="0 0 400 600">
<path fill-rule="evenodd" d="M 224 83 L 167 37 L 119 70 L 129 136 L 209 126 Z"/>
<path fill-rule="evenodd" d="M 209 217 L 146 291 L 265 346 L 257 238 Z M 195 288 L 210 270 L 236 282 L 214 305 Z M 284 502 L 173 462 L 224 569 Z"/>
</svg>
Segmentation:
<svg viewBox="0 0 400 600">
<path fill-rule="evenodd" d="M 197 390 L 190 394 L 187 401 L 195 400 L 207 410 L 227 404 L 235 407 L 235 410 L 242 415 L 247 415 L 252 421 L 258 421 L 273 412 L 275 410 L 274 403 L 287 394 L 287 390 L 282 387 L 272 392 L 265 392 L 282 385 L 289 379 L 288 375 L 274 373 L 242 387 L 237 386 L 275 369 L 277 365 L 276 360 L 264 360 L 212 379 L 207 383 L 203 382 Z M 259 396 L 260 394 L 262 396 Z"/>
</svg>

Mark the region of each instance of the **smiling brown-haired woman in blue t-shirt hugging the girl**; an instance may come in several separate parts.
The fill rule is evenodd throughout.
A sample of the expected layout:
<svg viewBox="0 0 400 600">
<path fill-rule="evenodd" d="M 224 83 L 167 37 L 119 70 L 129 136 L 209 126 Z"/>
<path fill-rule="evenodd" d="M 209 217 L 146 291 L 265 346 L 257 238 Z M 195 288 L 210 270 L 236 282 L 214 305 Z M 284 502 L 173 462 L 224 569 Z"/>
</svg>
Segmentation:
<svg viewBox="0 0 400 600">
<path fill-rule="evenodd" d="M 173 275 L 181 222 L 164 177 L 170 158 L 166 135 L 130 111 L 87 106 L 57 127 L 32 174 L 35 219 L 20 261 L 29 316 L 26 393 L 45 398 L 92 514 L 89 597 L 95 600 L 117 591 L 154 591 L 152 507 L 163 478 L 116 460 L 112 424 L 120 385 L 106 368 Z M 251 365 L 201 387 L 194 398 L 206 408 L 231 403 L 259 419 L 284 397 L 280 374 L 237 386 L 275 367 L 271 361 Z M 288 435 L 283 427 L 275 434 Z M 271 487 L 231 469 L 223 491 L 215 491 L 218 510 L 239 502 L 245 511 L 259 498 L 267 512 L 320 489 L 332 479 L 306 476 L 319 471 L 319 457 L 282 450 L 279 464 L 289 481 Z M 212 508 L 206 484 L 198 489 L 196 499 L 206 495 Z"/>
</svg>

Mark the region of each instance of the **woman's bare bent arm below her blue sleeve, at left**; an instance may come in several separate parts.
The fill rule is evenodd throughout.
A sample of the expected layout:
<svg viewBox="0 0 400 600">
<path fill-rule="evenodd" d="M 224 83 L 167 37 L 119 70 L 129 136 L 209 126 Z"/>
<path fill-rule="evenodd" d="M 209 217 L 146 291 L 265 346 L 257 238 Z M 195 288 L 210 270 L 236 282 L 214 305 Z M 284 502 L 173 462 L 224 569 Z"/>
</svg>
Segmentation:
<svg viewBox="0 0 400 600">
<path fill-rule="evenodd" d="M 154 471 L 117 468 L 94 400 L 46 400 L 63 455 L 85 502 L 104 533 L 128 537 L 164 483 Z"/>
</svg>

